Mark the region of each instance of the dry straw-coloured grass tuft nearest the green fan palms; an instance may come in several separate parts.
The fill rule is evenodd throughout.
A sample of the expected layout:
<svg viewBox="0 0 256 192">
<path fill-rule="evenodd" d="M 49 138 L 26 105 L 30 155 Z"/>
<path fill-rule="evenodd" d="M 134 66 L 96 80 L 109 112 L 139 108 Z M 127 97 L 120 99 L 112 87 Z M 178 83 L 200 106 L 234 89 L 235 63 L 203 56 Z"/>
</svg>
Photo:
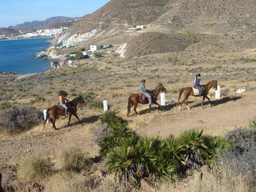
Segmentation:
<svg viewBox="0 0 256 192">
<path fill-rule="evenodd" d="M 64 170 L 81 170 L 88 167 L 91 161 L 78 146 L 73 144 L 61 152 L 59 163 Z"/>
</svg>

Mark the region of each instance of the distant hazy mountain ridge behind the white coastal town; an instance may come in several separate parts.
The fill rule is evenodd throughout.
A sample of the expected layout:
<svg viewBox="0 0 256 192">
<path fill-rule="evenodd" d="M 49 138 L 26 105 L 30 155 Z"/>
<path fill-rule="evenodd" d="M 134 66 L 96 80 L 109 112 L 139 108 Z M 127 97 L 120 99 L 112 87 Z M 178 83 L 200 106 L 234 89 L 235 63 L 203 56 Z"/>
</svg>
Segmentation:
<svg viewBox="0 0 256 192">
<path fill-rule="evenodd" d="M 70 26 L 69 23 L 61 23 L 62 21 L 74 21 L 75 19 L 78 19 L 78 17 L 75 18 L 69 18 L 65 16 L 56 16 L 51 17 L 48 19 L 45 19 L 44 21 L 32 21 L 32 22 L 25 22 L 23 24 L 18 24 L 15 26 L 9 26 L 9 29 L 53 29 L 54 26 L 59 27 L 66 27 Z"/>
</svg>

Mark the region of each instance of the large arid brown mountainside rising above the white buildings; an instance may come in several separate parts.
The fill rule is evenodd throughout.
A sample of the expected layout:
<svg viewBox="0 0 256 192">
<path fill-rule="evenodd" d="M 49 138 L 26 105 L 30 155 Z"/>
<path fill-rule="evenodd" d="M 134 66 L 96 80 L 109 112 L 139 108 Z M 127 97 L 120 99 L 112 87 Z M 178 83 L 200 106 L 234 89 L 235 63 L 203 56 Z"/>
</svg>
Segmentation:
<svg viewBox="0 0 256 192">
<path fill-rule="evenodd" d="M 111 0 L 75 22 L 52 44 L 125 44 L 128 57 L 179 50 L 226 51 L 230 46 L 243 50 L 255 46 L 255 7 L 252 0 Z M 143 30 L 128 30 L 148 24 Z"/>
</svg>

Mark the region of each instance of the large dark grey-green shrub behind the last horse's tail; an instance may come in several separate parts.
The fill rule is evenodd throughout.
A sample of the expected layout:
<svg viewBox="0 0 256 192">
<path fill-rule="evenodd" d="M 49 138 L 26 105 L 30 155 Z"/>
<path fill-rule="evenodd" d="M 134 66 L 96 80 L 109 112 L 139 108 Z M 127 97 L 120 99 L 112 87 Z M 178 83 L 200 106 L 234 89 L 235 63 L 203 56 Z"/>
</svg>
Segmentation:
<svg viewBox="0 0 256 192">
<path fill-rule="evenodd" d="M 11 107 L 0 111 L 0 131 L 20 133 L 38 125 L 43 112 L 34 106 Z"/>
</svg>

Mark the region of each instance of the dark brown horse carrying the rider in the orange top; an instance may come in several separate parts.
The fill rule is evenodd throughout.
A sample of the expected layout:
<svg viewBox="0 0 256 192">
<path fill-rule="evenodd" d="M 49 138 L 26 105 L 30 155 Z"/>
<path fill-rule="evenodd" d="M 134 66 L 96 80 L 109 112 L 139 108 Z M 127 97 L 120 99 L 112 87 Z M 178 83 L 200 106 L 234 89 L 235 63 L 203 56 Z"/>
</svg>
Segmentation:
<svg viewBox="0 0 256 192">
<path fill-rule="evenodd" d="M 83 97 L 81 95 L 79 95 L 78 97 L 76 97 L 72 101 L 67 102 L 68 112 L 69 112 L 69 118 L 68 118 L 68 125 L 69 126 L 70 126 L 69 122 L 70 122 L 70 119 L 71 119 L 72 115 L 74 115 L 78 119 L 79 123 L 82 124 L 79 117 L 76 114 L 76 111 L 77 111 L 76 106 L 78 105 L 78 103 L 80 103 L 81 105 L 83 105 L 85 103 L 84 100 L 83 100 Z M 49 118 L 49 114 L 52 117 L 52 118 L 50 118 L 50 121 L 52 122 L 52 128 L 57 130 L 57 128 L 55 127 L 56 117 L 58 115 L 59 116 L 65 116 L 64 115 L 64 110 L 59 109 L 58 106 L 56 106 L 56 105 L 47 109 L 46 118 L 45 118 L 45 121 L 44 121 L 44 127 L 45 127 L 46 121 Z"/>
</svg>

